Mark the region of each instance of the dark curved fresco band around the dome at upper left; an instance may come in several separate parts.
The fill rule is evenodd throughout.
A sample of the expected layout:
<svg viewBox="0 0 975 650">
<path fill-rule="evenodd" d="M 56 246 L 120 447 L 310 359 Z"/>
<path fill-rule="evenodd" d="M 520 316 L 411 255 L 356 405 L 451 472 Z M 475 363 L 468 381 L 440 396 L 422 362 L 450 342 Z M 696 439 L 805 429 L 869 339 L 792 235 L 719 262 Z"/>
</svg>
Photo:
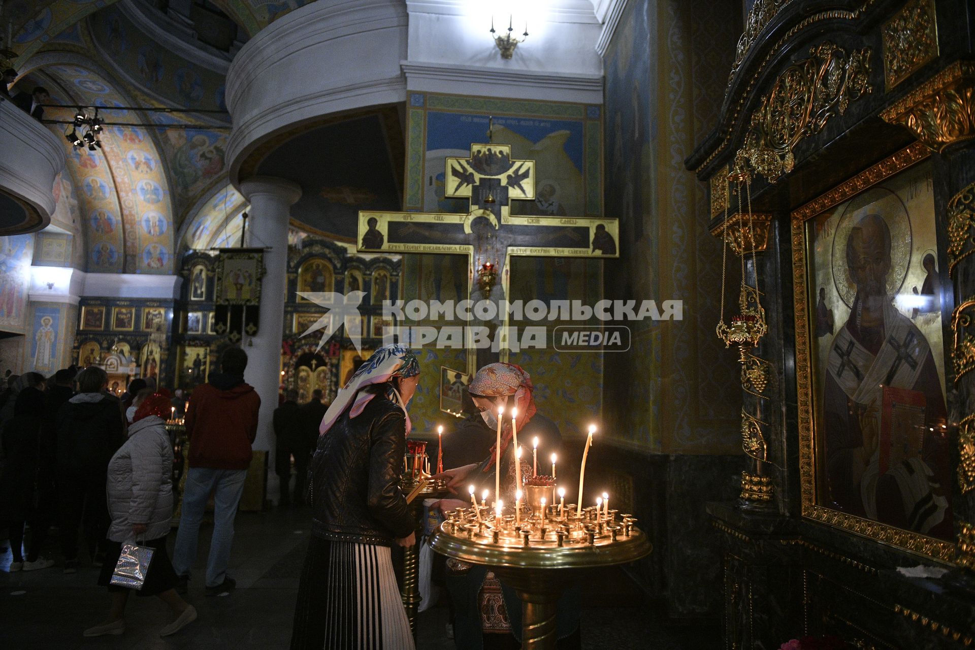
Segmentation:
<svg viewBox="0 0 975 650">
<path fill-rule="evenodd" d="M 146 93 L 187 108 L 225 109 L 216 93 L 223 87 L 222 74 L 161 47 L 118 8 L 98 12 L 89 23 L 120 72 Z"/>
</svg>

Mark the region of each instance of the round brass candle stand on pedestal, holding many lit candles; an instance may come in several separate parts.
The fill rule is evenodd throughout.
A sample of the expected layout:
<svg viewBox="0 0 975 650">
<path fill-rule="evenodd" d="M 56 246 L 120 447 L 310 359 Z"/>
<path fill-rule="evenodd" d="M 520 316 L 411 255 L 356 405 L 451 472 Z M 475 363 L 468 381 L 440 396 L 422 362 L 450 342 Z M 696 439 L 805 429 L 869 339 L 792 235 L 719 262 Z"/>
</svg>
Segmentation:
<svg viewBox="0 0 975 650">
<path fill-rule="evenodd" d="M 458 508 L 434 533 L 439 554 L 487 564 L 522 600 L 522 647 L 556 647 L 556 603 L 586 569 L 623 564 L 650 553 L 637 519 L 615 510 L 575 506 Z"/>
</svg>

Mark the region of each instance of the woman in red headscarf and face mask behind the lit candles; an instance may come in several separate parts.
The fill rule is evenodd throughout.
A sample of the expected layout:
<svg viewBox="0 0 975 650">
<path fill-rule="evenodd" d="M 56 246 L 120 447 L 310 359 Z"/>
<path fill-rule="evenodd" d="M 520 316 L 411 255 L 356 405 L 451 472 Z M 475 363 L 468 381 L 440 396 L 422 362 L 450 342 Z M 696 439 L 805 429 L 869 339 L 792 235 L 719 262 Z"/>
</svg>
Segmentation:
<svg viewBox="0 0 975 650">
<path fill-rule="evenodd" d="M 562 451 L 562 435 L 552 420 L 538 412 L 532 392 L 531 377 L 514 363 L 489 363 L 474 376 L 468 388 L 471 399 L 478 410 L 478 416 L 468 418 L 452 436 L 468 440 L 495 440 L 490 451 L 480 463 L 465 465 L 448 470 L 438 478 L 448 479 L 450 491 L 464 492 L 473 484 L 480 494 L 487 489 L 494 492 L 494 473 L 498 471 L 496 456 L 497 411 L 504 406 L 501 424 L 501 499 L 504 503 L 515 503 L 515 445 L 511 427 L 512 408 L 518 408 L 518 444 L 522 447 L 522 475 L 531 475 L 532 440 L 538 439 L 539 474 L 548 474 L 543 468 L 550 467 L 549 459 L 553 453 Z M 496 499 L 496 495 L 488 502 Z M 443 512 L 467 506 L 468 501 L 443 499 L 437 506 Z M 492 607 L 482 607 L 482 587 L 487 578 L 487 566 L 469 564 L 454 559 L 447 561 L 446 582 L 453 604 L 453 642 L 461 650 L 483 650 L 485 634 L 482 613 L 485 616 L 494 612 Z M 522 605 L 518 596 L 502 585 L 504 609 L 511 622 L 511 630 L 521 640 Z M 577 593 L 567 590 L 559 601 L 559 648 L 577 648 L 579 640 L 579 607 L 575 603 Z M 501 616 L 494 612 L 491 625 L 499 626 Z M 494 636 L 494 634 L 491 634 Z"/>
</svg>

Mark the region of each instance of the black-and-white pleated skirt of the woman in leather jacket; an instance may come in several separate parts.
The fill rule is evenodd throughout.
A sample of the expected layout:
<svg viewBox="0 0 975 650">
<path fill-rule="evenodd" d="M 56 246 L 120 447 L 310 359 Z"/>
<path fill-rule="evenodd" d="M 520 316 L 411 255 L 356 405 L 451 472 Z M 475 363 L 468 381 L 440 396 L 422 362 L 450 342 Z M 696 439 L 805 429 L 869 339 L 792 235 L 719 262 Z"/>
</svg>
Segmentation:
<svg viewBox="0 0 975 650">
<path fill-rule="evenodd" d="M 388 547 L 311 538 L 292 650 L 415 650 Z"/>
</svg>

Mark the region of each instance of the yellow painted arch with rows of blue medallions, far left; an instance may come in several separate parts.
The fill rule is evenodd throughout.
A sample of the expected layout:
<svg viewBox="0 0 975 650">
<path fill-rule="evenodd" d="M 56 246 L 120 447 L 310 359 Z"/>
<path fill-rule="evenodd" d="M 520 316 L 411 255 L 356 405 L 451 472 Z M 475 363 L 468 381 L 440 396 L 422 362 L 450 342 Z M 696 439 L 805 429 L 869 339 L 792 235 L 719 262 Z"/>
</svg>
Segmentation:
<svg viewBox="0 0 975 650">
<path fill-rule="evenodd" d="M 121 47 L 121 46 L 120 46 Z M 106 107 L 108 117 L 125 118 L 130 105 L 110 83 L 95 72 L 77 65 L 54 65 L 47 70 L 74 97 L 66 103 L 90 103 Z M 60 109 L 54 109 L 60 110 Z M 61 110 L 61 112 L 68 112 Z M 170 192 L 159 152 L 145 130 L 113 126 L 102 132 L 101 149 L 68 146 L 69 167 L 86 205 L 90 270 L 97 272 L 167 273 L 172 270 L 168 251 L 173 248 Z M 114 201 L 112 201 L 114 199 Z M 144 228 L 147 212 L 162 216 L 165 223 Z M 157 217 L 154 217 L 158 219 Z M 151 222 L 153 218 L 150 218 Z M 143 254 L 155 245 L 165 255 Z M 159 260 L 163 259 L 162 267 Z"/>
</svg>

